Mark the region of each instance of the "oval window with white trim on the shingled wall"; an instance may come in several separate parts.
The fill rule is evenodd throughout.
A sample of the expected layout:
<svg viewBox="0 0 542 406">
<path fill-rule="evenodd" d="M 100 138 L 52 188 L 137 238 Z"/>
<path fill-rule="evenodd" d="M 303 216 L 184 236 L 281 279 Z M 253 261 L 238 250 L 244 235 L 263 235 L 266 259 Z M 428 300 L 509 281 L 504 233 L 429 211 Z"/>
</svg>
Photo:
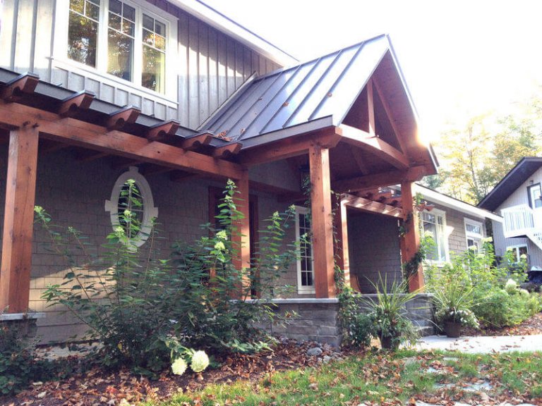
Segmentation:
<svg viewBox="0 0 542 406">
<path fill-rule="evenodd" d="M 133 186 L 130 187 L 130 180 Z M 128 192 L 132 190 L 136 195 L 138 204 L 131 204 L 128 199 Z M 130 226 L 124 219 L 124 211 L 129 207 L 131 217 L 138 221 L 139 231 L 136 235 L 130 235 Z M 145 243 L 152 229 L 152 219 L 158 216 L 158 209 L 155 207 L 152 192 L 147 180 L 139 173 L 138 168 L 131 166 L 117 178 L 111 199 L 105 201 L 105 211 L 109 211 L 113 229 L 123 227 L 128 238 L 134 247 L 140 247 Z"/>
</svg>

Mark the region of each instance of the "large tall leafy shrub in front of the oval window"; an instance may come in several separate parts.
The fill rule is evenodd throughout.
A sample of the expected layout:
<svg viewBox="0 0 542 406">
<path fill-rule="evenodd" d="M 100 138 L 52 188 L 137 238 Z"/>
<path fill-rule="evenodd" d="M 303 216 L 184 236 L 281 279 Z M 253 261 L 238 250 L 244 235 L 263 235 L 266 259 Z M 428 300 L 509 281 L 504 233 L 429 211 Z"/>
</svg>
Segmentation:
<svg viewBox="0 0 542 406">
<path fill-rule="evenodd" d="M 105 365 L 131 367 L 141 374 L 155 374 L 179 358 L 189 363 L 189 347 L 231 351 L 260 346 L 258 340 L 267 335 L 253 324 L 275 314 L 265 300 L 247 299 L 253 289 L 269 297 L 270 287 L 296 258 L 295 245 L 279 250 L 291 213 L 275 213 L 260 233 L 253 273 L 239 269 L 234 260 L 243 214 L 237 207 L 236 186 L 229 181 L 219 205 L 222 229 L 207 224 L 209 236 L 192 245 L 176 244 L 171 258 L 160 259 L 154 225 L 145 235 L 145 248 L 135 243 L 143 234 L 133 215 L 140 196 L 133 183 L 127 185 L 120 224 L 107 237 L 100 257 L 92 256 L 77 230 L 62 232 L 36 208 L 37 222 L 49 233 L 52 249 L 69 266 L 64 283 L 45 291 L 49 305 L 64 305 L 88 326 L 87 338 L 103 345 Z"/>
</svg>

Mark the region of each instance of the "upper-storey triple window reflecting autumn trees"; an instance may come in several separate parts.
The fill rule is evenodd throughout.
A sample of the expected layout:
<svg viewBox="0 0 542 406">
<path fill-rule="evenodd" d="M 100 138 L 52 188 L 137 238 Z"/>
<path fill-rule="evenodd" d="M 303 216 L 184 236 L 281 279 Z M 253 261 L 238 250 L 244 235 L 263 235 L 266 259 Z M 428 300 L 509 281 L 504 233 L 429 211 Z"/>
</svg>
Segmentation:
<svg viewBox="0 0 542 406">
<path fill-rule="evenodd" d="M 111 75 L 109 78 L 176 97 L 174 86 L 169 86 L 171 91 L 167 87 L 175 81 L 173 16 L 151 4 L 140 6 L 131 1 L 62 1 L 68 2 L 68 16 L 59 11 L 59 25 L 66 18 L 68 26 L 67 37 L 57 38 L 61 43 L 55 52 L 59 59 L 67 56 L 68 60 L 82 64 L 82 68 L 95 68 Z M 59 27 L 59 32 L 66 31 Z"/>
</svg>

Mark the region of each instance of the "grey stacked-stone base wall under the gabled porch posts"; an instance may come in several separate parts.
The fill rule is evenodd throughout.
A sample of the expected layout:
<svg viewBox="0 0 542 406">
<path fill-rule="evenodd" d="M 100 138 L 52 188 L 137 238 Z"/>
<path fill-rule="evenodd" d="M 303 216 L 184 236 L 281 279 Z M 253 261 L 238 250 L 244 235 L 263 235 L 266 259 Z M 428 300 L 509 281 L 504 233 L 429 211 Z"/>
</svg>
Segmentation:
<svg viewBox="0 0 542 406">
<path fill-rule="evenodd" d="M 363 295 L 369 300 L 376 300 L 376 295 Z M 342 340 L 342 328 L 339 322 L 339 301 L 337 299 L 277 299 L 272 301 L 277 306 L 275 312 L 287 315 L 287 322 L 280 324 L 265 323 L 258 327 L 270 331 L 275 336 L 285 336 L 296 340 L 311 340 L 338 347 Z M 366 309 L 360 303 L 360 312 Z M 421 335 L 434 332 L 433 305 L 430 295 L 421 293 L 406 304 L 407 316 L 419 328 Z M 291 314 L 291 316 L 288 316 Z"/>
</svg>

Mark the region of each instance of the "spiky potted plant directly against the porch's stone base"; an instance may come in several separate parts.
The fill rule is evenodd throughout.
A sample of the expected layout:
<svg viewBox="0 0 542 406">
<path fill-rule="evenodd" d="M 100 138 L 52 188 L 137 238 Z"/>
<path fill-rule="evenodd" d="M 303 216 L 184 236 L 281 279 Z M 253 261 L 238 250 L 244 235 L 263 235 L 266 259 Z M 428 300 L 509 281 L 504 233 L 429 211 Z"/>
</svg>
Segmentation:
<svg viewBox="0 0 542 406">
<path fill-rule="evenodd" d="M 368 309 L 373 322 L 373 333 L 380 339 L 380 345 L 385 349 L 397 350 L 399 344 L 406 340 L 416 340 L 417 333 L 412 322 L 406 316 L 406 302 L 414 299 L 417 292 L 406 293 L 406 282 L 393 281 L 387 285 L 379 278 L 373 283 L 376 291 L 375 300 L 366 299 L 364 305 Z"/>
</svg>

